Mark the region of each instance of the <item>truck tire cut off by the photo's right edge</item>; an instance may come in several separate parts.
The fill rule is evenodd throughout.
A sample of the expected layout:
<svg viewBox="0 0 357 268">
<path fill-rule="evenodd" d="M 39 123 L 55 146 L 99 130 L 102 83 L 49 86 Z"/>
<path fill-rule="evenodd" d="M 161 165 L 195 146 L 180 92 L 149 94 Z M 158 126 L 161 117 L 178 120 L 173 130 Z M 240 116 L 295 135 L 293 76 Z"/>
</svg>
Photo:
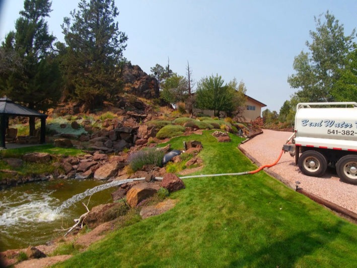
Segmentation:
<svg viewBox="0 0 357 268">
<path fill-rule="evenodd" d="M 336 171 L 342 181 L 357 185 L 357 155 L 341 157 L 336 164 Z"/>
</svg>

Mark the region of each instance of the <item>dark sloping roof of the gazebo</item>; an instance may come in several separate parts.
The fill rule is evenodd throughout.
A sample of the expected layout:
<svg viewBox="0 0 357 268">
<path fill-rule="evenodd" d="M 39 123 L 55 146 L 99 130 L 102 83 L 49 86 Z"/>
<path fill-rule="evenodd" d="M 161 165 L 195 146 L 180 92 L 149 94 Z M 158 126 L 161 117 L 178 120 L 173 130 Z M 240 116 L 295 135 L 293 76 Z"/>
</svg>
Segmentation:
<svg viewBox="0 0 357 268">
<path fill-rule="evenodd" d="M 8 97 L 0 98 L 0 115 L 47 117 L 45 114 L 14 103 Z"/>
</svg>

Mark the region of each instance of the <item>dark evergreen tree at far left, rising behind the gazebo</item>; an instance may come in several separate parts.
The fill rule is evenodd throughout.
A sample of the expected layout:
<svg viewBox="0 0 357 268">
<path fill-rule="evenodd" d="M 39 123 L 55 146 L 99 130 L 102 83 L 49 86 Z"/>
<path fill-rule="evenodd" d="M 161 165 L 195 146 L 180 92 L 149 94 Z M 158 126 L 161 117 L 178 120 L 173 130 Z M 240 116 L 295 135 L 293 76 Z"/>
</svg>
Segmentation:
<svg viewBox="0 0 357 268">
<path fill-rule="evenodd" d="M 60 72 L 51 50 L 53 35 L 48 34 L 45 18 L 51 12 L 49 0 L 25 0 L 15 32 L 2 43 L 0 94 L 7 95 L 31 109 L 46 111 L 60 97 Z M 30 135 L 34 134 L 30 118 Z"/>
</svg>

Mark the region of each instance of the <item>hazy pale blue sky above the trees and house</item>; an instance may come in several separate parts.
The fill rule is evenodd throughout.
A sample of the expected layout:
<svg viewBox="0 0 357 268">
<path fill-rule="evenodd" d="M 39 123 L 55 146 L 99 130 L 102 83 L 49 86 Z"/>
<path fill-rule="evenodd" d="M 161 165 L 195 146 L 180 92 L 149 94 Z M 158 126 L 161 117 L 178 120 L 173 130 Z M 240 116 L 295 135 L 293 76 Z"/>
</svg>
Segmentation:
<svg viewBox="0 0 357 268">
<path fill-rule="evenodd" d="M 15 30 L 23 0 L 0 0 L 0 42 Z M 52 0 L 48 30 L 63 41 L 60 25 L 79 0 Z M 355 0 L 115 0 L 119 30 L 128 41 L 124 57 L 146 73 L 157 63 L 197 82 L 221 75 L 243 81 L 247 95 L 279 110 L 297 89 L 287 79 L 294 57 L 308 52 L 314 18 L 328 10 L 345 35 L 357 27 Z M 324 17 L 323 17 L 324 18 Z M 354 42 L 357 42 L 356 38 Z"/>
</svg>

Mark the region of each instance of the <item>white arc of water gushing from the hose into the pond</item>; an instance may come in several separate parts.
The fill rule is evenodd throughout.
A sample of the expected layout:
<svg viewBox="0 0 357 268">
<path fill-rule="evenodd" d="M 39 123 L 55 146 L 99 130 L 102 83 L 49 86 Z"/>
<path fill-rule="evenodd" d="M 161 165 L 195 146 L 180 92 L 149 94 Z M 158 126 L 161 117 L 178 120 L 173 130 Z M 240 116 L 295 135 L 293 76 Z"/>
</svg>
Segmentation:
<svg viewBox="0 0 357 268">
<path fill-rule="evenodd" d="M 108 189 L 110 187 L 114 187 L 114 186 L 119 186 L 122 184 L 126 184 L 126 183 L 131 183 L 134 181 L 144 181 L 145 177 L 141 177 L 141 178 L 128 178 L 127 180 L 122 180 L 122 181 L 113 181 L 107 184 L 103 184 L 103 185 L 98 185 L 92 189 L 88 189 L 85 192 L 81 193 L 81 194 L 77 194 L 69 199 L 67 199 L 66 201 L 64 201 L 62 203 L 62 205 L 60 205 L 58 208 L 55 209 L 55 213 L 59 214 L 62 210 L 69 208 L 70 206 L 72 206 L 73 204 L 77 203 L 78 201 L 84 199 L 85 197 L 91 196 L 97 192 L 100 192 L 102 190 Z"/>
</svg>

